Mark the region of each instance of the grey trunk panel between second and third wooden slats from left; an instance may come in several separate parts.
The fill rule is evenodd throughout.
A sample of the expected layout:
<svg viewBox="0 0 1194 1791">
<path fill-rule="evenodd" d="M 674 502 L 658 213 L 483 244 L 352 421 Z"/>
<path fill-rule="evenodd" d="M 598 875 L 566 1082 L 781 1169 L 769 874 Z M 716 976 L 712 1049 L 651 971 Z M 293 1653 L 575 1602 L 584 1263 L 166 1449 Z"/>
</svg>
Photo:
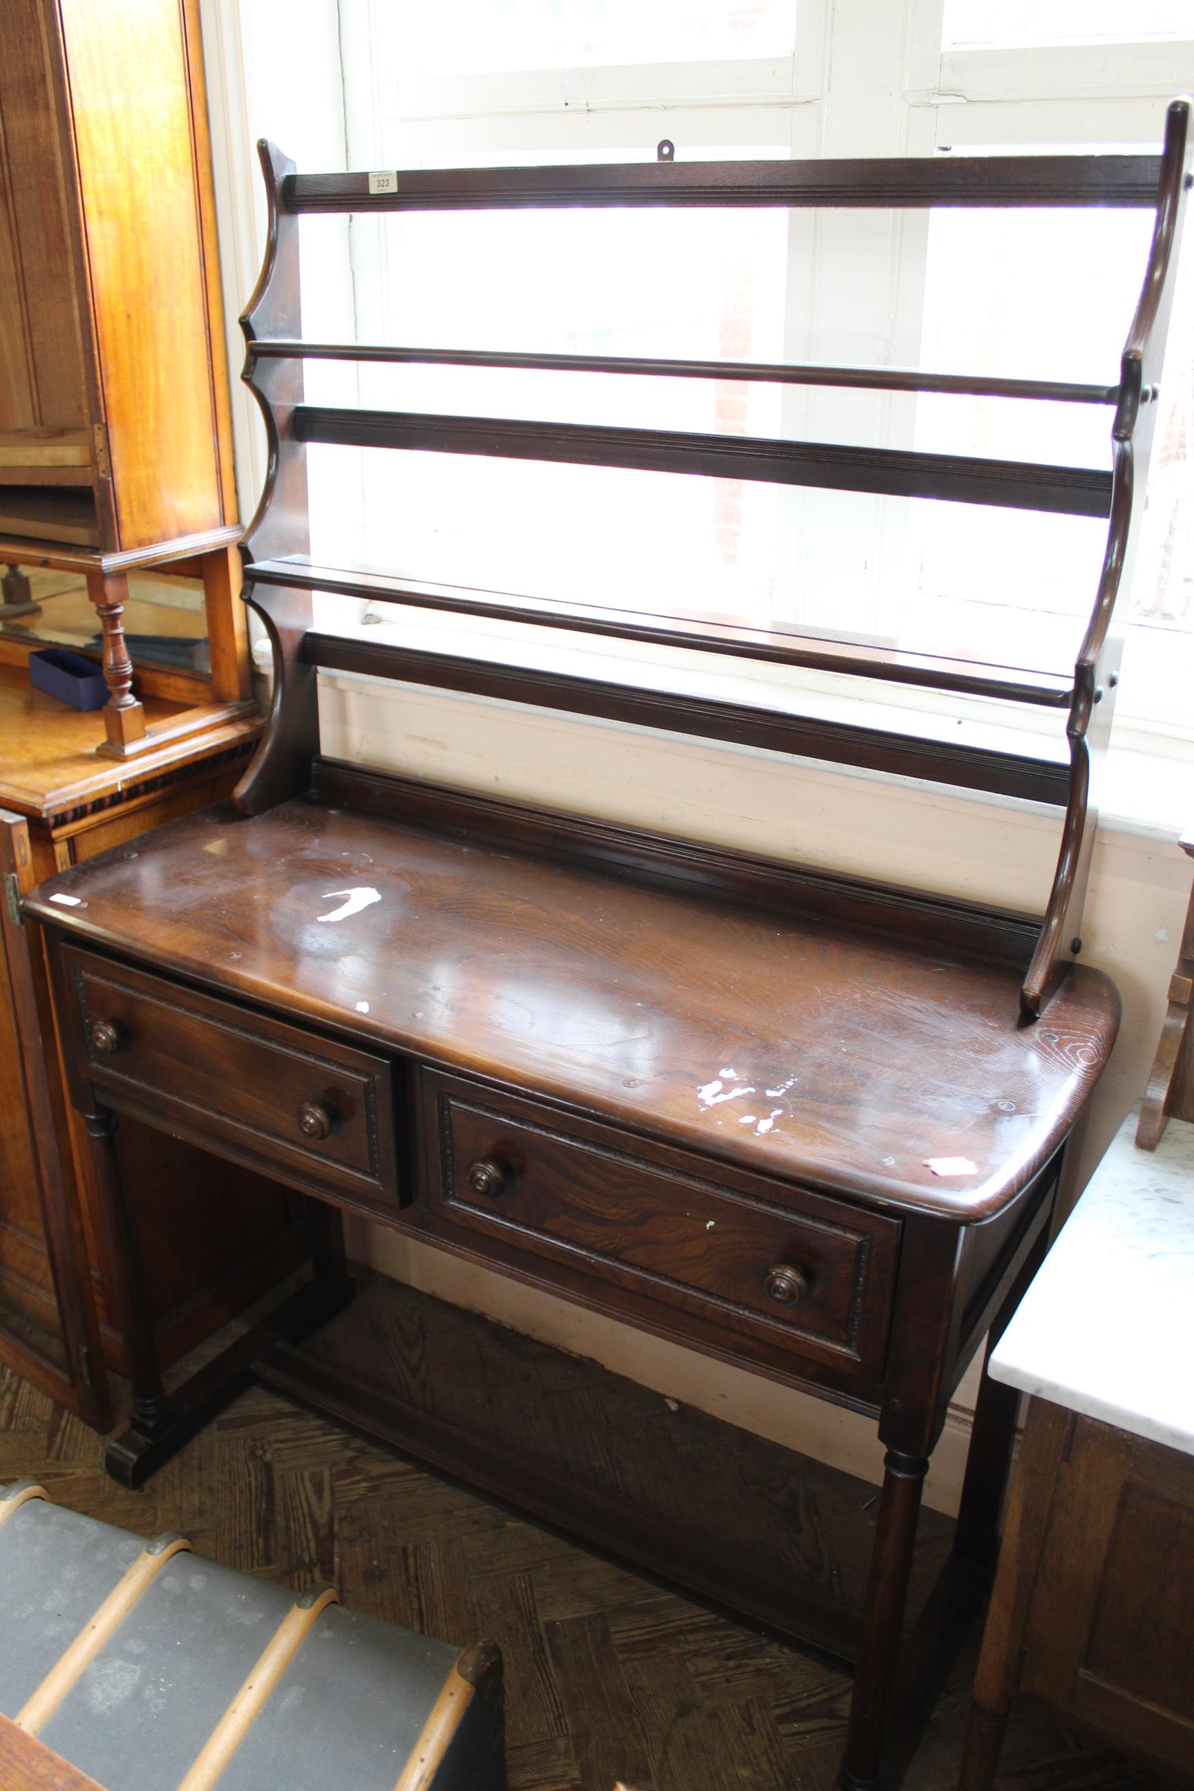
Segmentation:
<svg viewBox="0 0 1194 1791">
<path fill-rule="evenodd" d="M 172 1556 L 39 1739 L 111 1791 L 175 1786 L 294 1599 L 199 1555 Z"/>
</svg>

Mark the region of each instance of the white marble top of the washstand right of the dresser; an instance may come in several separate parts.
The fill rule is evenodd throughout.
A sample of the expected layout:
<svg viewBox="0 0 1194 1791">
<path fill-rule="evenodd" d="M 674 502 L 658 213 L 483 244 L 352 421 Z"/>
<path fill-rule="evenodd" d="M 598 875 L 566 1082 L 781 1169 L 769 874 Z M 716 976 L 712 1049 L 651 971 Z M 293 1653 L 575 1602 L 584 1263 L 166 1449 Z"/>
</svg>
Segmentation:
<svg viewBox="0 0 1194 1791">
<path fill-rule="evenodd" d="M 1135 1107 L 1020 1300 L 997 1381 L 1194 1454 L 1194 1123 Z"/>
</svg>

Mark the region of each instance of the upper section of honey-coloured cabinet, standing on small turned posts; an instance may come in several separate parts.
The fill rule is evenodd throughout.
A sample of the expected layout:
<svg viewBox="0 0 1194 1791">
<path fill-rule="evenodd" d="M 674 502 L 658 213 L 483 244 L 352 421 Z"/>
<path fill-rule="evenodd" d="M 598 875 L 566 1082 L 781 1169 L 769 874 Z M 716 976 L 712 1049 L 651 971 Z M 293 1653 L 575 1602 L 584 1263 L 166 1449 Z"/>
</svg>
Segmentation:
<svg viewBox="0 0 1194 1791">
<path fill-rule="evenodd" d="M 249 711 L 236 539 L 197 7 L 5 0 L 0 561 L 86 580 L 111 691 L 102 752 Z M 127 575 L 150 566 L 202 578 L 208 675 L 134 675 Z M 7 584 L 11 616 L 27 591 Z M 5 627 L 0 659 L 29 645 Z M 147 716 L 147 695 L 166 713 Z"/>
</svg>

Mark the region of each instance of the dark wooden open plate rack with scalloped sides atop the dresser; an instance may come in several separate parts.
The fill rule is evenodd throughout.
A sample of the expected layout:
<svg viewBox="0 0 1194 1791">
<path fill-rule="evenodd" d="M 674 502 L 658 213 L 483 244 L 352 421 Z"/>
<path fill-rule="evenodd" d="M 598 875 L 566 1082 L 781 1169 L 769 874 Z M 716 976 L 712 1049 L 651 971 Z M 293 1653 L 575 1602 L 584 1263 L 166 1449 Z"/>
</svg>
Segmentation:
<svg viewBox="0 0 1194 1791">
<path fill-rule="evenodd" d="M 752 743 L 834 763 L 897 770 L 963 788 L 992 790 L 1063 808 L 1062 844 L 1040 935 L 1026 967 L 1020 1007 L 1035 1019 L 1081 951 L 1081 910 L 1097 824 L 1096 770 L 1106 747 L 1119 675 L 1112 616 L 1131 577 L 1156 416 L 1165 330 L 1173 306 L 1187 192 L 1194 184 L 1190 102 L 1174 100 L 1160 156 L 990 156 L 890 161 L 655 163 L 562 168 L 424 168 L 381 174 L 297 174 L 261 143 L 269 238 L 258 287 L 242 317 L 245 381 L 265 417 L 269 471 L 249 527 L 245 600 L 261 614 L 274 648 L 274 697 L 265 743 L 236 799 L 256 813 L 304 790 L 319 750 L 319 666 L 431 682 L 569 713 L 634 716 L 646 725 Z M 849 208 L 1142 208 L 1155 213 L 1140 301 L 1121 356 L 1117 385 L 1006 380 L 899 367 L 832 367 L 668 360 L 601 355 L 503 353 L 482 347 L 405 347 L 304 342 L 297 222 L 328 211 L 473 211 L 601 206 L 849 206 Z M 635 374 L 743 380 L 780 385 L 934 392 L 1113 407 L 1112 469 L 915 453 L 814 441 L 709 435 L 680 430 L 535 423 L 516 417 L 437 416 L 304 403 L 308 360 L 498 367 L 525 373 Z M 306 446 L 340 444 L 406 451 L 632 467 L 696 476 L 881 493 L 1008 509 L 1106 518 L 1099 584 L 1074 675 L 1049 677 L 933 656 L 863 652 L 832 638 L 809 641 L 712 618 L 627 613 L 567 600 L 532 600 L 397 578 L 376 568 L 329 568 L 310 559 Z M 1069 768 L 1051 752 L 992 752 L 940 740 L 888 734 L 786 711 L 675 700 L 664 691 L 494 668 L 451 654 L 376 643 L 333 643 L 313 629 L 313 593 L 533 621 L 627 639 L 668 641 L 700 652 L 772 659 L 897 684 L 1067 711 Z"/>
</svg>

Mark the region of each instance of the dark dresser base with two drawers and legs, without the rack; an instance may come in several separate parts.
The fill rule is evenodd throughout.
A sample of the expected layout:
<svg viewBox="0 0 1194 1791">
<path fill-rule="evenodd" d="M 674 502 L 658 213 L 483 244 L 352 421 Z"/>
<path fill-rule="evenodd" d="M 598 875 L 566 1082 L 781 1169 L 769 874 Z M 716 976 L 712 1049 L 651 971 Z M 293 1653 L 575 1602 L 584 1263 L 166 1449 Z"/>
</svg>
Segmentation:
<svg viewBox="0 0 1194 1791">
<path fill-rule="evenodd" d="M 942 906 L 884 933 L 806 890 L 793 919 L 782 870 L 768 887 L 732 854 L 331 765 L 310 799 L 138 847 L 27 903 L 125 1270 L 134 1427 L 109 1467 L 152 1470 L 272 1336 L 347 1297 L 328 1223 L 272 1329 L 165 1397 L 120 1116 L 874 1415 L 847 1757 L 874 1782 L 927 1460 L 1038 1261 L 1115 1037 L 1110 981 L 1076 967 L 1024 1026 L 1022 960 L 965 919 L 951 935 Z M 958 1524 L 972 1594 L 1011 1444 L 1001 1392 L 983 1384 Z"/>
</svg>

